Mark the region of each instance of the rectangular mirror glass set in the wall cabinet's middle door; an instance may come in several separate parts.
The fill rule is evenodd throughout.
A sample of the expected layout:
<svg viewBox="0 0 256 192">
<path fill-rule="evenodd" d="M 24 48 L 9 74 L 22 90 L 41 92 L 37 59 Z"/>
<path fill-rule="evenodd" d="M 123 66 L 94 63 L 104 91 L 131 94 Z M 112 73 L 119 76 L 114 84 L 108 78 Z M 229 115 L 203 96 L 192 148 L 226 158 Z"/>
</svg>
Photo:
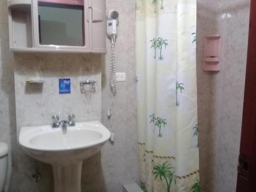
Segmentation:
<svg viewBox="0 0 256 192">
<path fill-rule="evenodd" d="M 83 0 L 38 0 L 40 45 L 84 46 Z"/>
</svg>

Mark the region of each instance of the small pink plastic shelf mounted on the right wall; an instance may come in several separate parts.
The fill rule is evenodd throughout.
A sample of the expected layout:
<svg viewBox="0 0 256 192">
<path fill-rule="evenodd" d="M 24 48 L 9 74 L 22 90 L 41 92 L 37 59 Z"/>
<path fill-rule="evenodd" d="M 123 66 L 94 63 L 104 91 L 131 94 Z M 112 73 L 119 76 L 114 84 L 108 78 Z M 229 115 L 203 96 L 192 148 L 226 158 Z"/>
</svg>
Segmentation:
<svg viewBox="0 0 256 192">
<path fill-rule="evenodd" d="M 205 36 L 204 45 L 204 71 L 220 71 L 221 36 Z"/>
</svg>

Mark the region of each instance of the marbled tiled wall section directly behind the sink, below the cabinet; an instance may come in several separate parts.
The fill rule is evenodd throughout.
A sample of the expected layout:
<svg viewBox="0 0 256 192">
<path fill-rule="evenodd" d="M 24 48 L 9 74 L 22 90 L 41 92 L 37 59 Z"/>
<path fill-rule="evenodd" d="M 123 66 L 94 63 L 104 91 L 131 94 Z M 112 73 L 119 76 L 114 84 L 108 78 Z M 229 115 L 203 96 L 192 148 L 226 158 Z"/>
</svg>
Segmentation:
<svg viewBox="0 0 256 192">
<path fill-rule="evenodd" d="M 57 114 L 60 119 L 67 119 L 68 114 L 75 114 L 76 121 L 101 119 L 101 55 L 86 54 L 14 54 L 15 100 L 17 135 L 20 127 L 28 125 L 51 124 L 51 116 Z M 59 94 L 58 78 L 71 79 L 71 94 Z M 26 79 L 43 80 L 43 86 L 29 86 Z M 95 80 L 96 92 L 91 100 L 87 100 L 81 93 L 79 81 Z M 84 173 L 99 174 L 100 153 L 93 156 L 92 161 L 98 162 L 95 166 L 84 161 Z M 90 162 L 90 160 L 89 160 Z M 87 166 L 87 164 L 91 164 Z M 86 169 L 88 167 L 88 169 Z M 32 175 L 36 172 L 42 175 L 41 180 L 35 183 Z M 18 147 L 19 191 L 53 191 L 52 169 L 48 164 L 40 163 L 27 156 L 22 148 Z M 91 177 L 83 176 L 83 183 L 95 183 Z M 82 190 L 91 190 L 91 185 L 83 186 Z M 93 191 L 93 190 L 91 190 Z"/>
</svg>

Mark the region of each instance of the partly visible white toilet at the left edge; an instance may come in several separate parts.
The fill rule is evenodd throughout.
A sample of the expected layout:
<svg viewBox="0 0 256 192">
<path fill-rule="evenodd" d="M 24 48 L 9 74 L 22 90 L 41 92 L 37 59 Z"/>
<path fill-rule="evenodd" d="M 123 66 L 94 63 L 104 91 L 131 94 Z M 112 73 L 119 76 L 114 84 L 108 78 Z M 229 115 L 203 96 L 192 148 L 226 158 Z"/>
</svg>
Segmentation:
<svg viewBox="0 0 256 192">
<path fill-rule="evenodd" d="M 5 189 L 8 151 L 8 145 L 6 143 L 0 142 L 0 192 L 3 192 Z"/>
</svg>

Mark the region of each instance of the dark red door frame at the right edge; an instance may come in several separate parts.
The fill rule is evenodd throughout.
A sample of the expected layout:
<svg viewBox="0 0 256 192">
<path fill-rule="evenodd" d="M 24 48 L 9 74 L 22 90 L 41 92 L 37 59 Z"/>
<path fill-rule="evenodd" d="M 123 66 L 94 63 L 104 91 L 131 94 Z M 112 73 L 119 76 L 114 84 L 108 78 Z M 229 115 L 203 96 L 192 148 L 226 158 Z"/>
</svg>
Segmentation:
<svg viewBox="0 0 256 192">
<path fill-rule="evenodd" d="M 237 192 L 256 191 L 256 1 L 251 1 Z"/>
</svg>

